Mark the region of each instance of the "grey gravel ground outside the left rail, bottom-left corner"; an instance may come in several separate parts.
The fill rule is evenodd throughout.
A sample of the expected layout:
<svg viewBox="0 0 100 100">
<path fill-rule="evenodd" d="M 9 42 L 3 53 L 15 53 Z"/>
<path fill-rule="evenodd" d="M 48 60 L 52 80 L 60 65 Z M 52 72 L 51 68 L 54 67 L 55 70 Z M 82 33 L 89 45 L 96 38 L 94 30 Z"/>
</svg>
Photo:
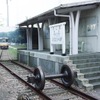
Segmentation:
<svg viewBox="0 0 100 100">
<path fill-rule="evenodd" d="M 0 100 L 17 100 L 18 95 L 22 93 L 25 88 L 26 87 L 10 73 L 2 68 L 0 69 Z"/>
</svg>

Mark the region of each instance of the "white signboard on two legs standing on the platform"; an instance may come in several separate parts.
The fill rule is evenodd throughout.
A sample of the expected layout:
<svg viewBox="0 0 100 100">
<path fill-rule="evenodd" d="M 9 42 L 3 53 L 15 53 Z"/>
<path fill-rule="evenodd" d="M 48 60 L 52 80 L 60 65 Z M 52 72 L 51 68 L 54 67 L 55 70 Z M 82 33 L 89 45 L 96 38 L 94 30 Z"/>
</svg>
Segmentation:
<svg viewBox="0 0 100 100">
<path fill-rule="evenodd" d="M 50 25 L 50 52 L 54 51 L 54 44 L 62 44 L 65 53 L 65 24 L 66 22 Z"/>
</svg>

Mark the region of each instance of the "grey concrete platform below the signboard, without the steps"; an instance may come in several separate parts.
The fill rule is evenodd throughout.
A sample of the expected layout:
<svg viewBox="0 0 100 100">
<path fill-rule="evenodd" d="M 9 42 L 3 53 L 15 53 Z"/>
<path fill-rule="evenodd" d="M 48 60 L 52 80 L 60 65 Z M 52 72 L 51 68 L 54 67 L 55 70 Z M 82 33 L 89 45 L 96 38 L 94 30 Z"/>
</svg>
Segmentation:
<svg viewBox="0 0 100 100">
<path fill-rule="evenodd" d="M 32 67 L 41 66 L 44 72 L 54 74 L 60 72 L 65 62 L 69 63 L 69 56 L 62 56 L 61 52 L 50 54 L 49 51 L 19 50 L 18 61 Z"/>
</svg>

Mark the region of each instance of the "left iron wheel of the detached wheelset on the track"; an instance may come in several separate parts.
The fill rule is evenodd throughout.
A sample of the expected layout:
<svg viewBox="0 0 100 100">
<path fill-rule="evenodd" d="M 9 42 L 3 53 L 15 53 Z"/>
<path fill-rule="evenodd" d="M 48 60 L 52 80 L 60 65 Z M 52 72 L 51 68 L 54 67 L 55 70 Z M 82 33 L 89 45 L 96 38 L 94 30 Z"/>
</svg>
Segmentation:
<svg viewBox="0 0 100 100">
<path fill-rule="evenodd" d="M 34 70 L 35 76 L 35 88 L 38 90 L 43 90 L 45 86 L 45 75 L 41 67 L 38 67 Z"/>
</svg>

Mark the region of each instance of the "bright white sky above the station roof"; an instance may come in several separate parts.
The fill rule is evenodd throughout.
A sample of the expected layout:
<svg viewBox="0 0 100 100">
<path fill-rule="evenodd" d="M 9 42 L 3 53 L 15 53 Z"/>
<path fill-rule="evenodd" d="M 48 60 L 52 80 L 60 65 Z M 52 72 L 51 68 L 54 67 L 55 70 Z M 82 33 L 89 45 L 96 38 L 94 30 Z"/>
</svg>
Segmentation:
<svg viewBox="0 0 100 100">
<path fill-rule="evenodd" d="M 9 26 L 15 26 L 26 19 L 41 14 L 60 4 L 81 2 L 88 0 L 8 0 L 9 4 Z M 0 22 L 7 25 L 7 3 L 0 0 Z"/>
</svg>

